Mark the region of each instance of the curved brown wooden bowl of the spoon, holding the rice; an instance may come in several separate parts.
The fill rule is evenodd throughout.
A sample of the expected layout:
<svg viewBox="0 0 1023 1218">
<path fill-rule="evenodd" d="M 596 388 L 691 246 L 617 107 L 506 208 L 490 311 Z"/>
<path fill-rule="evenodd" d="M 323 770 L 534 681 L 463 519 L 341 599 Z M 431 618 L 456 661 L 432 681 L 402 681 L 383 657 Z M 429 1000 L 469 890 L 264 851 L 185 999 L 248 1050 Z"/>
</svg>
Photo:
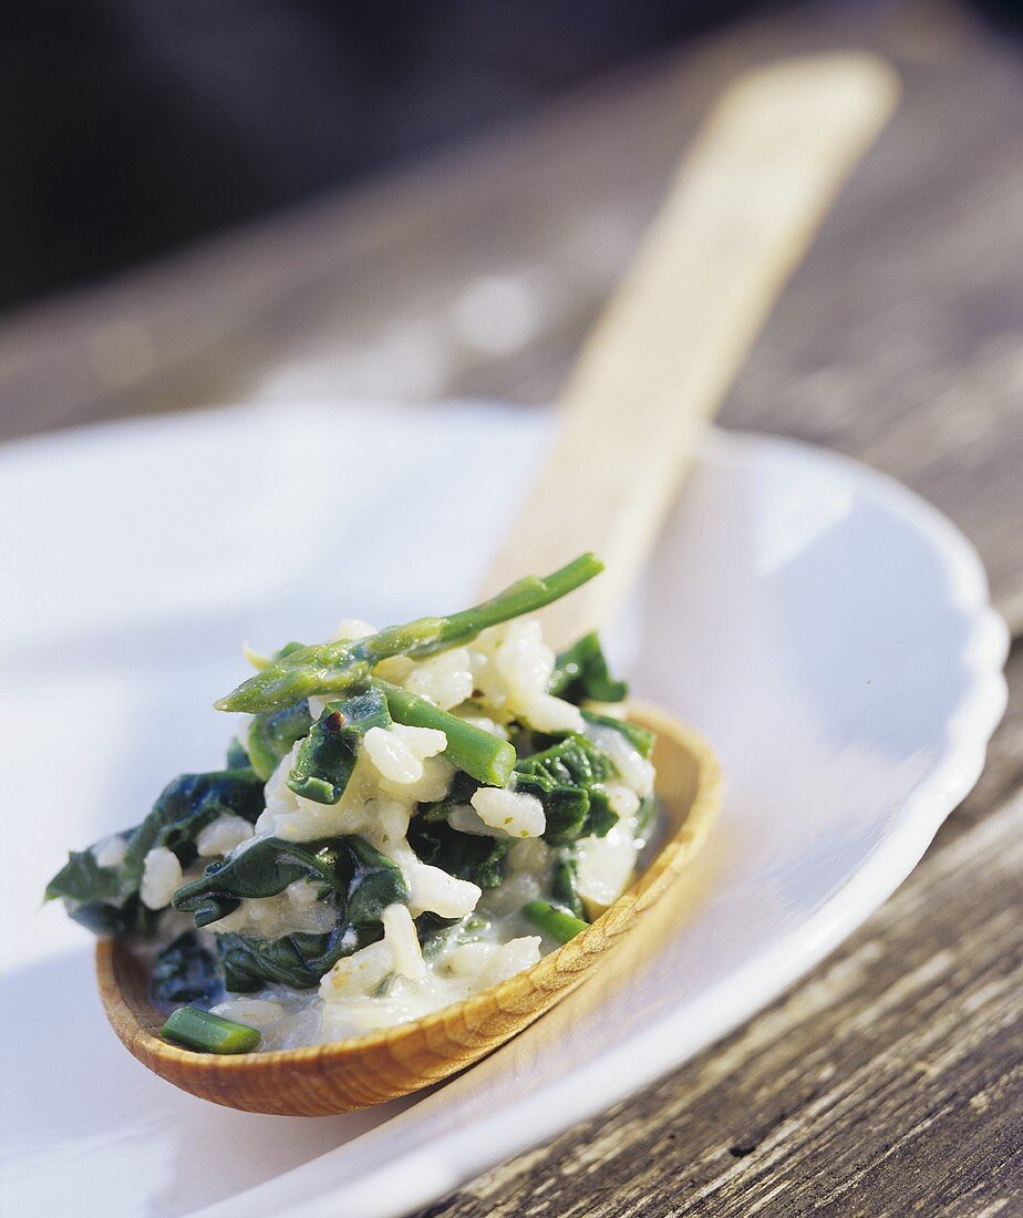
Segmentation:
<svg viewBox="0 0 1023 1218">
<path fill-rule="evenodd" d="M 178 1049 L 158 1032 L 149 971 L 123 940 L 96 948 L 100 996 L 114 1032 L 151 1071 L 214 1104 L 247 1112 L 319 1117 L 351 1112 L 438 1083 L 540 1018 L 598 967 L 604 952 L 676 881 L 703 845 L 721 804 L 721 771 L 699 733 L 666 711 L 633 704 L 630 719 L 656 733 L 656 792 L 667 839 L 632 887 L 586 931 L 463 1002 L 334 1044 L 218 1056 Z"/>
</svg>

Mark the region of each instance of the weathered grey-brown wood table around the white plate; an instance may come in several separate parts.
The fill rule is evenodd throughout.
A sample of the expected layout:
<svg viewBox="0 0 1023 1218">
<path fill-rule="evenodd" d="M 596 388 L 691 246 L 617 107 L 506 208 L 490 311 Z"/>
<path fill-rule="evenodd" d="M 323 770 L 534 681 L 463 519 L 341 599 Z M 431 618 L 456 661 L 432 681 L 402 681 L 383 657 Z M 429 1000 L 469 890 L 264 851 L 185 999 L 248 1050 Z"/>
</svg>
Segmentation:
<svg viewBox="0 0 1023 1218">
<path fill-rule="evenodd" d="M 884 50 L 895 122 L 723 410 L 851 453 L 976 542 L 1023 627 L 1023 65 L 958 10 L 731 32 L 514 129 L 0 323 L 4 437 L 259 396 L 541 402 L 734 71 Z M 430 1213 L 1023 1209 L 1023 653 L 977 790 L 846 945 L 747 1027 Z"/>
</svg>

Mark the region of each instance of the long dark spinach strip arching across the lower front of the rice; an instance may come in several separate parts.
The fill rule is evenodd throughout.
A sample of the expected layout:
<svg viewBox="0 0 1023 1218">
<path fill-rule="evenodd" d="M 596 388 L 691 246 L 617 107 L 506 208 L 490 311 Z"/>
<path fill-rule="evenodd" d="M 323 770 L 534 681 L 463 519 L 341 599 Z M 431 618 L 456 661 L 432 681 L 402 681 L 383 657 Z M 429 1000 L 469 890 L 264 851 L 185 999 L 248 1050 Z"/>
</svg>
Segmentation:
<svg viewBox="0 0 1023 1218">
<path fill-rule="evenodd" d="M 395 901 L 408 899 L 401 868 L 364 838 L 318 842 L 258 838 L 251 845 L 212 862 L 199 879 L 174 893 L 173 906 L 195 915 L 196 927 L 227 917 L 246 898 L 276 896 L 298 879 L 322 885 L 342 921 L 363 926 L 380 920 Z"/>
</svg>

